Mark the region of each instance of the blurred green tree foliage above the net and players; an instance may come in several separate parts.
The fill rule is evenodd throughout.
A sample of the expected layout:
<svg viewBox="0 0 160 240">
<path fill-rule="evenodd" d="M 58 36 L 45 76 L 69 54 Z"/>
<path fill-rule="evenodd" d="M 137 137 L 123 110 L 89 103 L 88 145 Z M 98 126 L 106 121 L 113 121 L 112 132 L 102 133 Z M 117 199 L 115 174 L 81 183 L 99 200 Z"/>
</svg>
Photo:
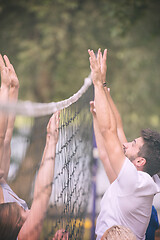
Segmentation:
<svg viewBox="0 0 160 240">
<path fill-rule="evenodd" d="M 108 48 L 107 81 L 128 139 L 160 130 L 159 0 L 0 0 L 0 52 L 20 99 L 59 101 L 88 76 L 87 49 Z"/>
</svg>

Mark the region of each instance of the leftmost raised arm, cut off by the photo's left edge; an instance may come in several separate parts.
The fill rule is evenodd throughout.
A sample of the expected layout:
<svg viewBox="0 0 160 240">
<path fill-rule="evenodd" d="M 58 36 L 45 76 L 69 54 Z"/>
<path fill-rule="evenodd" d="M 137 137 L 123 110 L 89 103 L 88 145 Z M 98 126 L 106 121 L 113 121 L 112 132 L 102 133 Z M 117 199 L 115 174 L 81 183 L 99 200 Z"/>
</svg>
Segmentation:
<svg viewBox="0 0 160 240">
<path fill-rule="evenodd" d="M 9 86 L 10 86 L 10 79 L 9 79 L 9 69 L 5 66 L 2 56 L 0 55 L 0 71 L 1 71 L 1 89 L 0 89 L 0 102 L 6 103 L 8 102 L 9 98 Z M 8 115 L 6 113 L 0 113 L 0 169 L 1 169 L 1 176 L 2 177 L 2 157 L 4 152 L 4 140 L 7 130 L 7 123 L 8 123 Z"/>
</svg>

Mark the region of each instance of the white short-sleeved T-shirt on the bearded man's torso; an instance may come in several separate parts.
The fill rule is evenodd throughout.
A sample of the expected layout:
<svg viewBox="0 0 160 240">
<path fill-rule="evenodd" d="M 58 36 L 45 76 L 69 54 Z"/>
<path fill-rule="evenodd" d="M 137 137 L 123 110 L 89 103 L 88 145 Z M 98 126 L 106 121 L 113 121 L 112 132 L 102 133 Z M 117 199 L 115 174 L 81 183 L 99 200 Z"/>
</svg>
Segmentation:
<svg viewBox="0 0 160 240">
<path fill-rule="evenodd" d="M 156 193 L 153 179 L 147 173 L 137 172 L 134 165 L 125 160 L 118 178 L 102 198 L 96 224 L 97 239 L 101 239 L 113 225 L 124 225 L 133 231 L 138 240 L 145 239 Z"/>
</svg>

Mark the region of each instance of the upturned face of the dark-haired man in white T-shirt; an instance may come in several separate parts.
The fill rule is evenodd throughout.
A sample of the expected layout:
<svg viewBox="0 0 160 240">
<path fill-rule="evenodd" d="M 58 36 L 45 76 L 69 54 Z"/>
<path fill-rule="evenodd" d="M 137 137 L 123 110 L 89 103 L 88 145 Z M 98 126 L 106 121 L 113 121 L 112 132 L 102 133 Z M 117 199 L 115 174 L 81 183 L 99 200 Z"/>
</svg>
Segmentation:
<svg viewBox="0 0 160 240">
<path fill-rule="evenodd" d="M 124 150 L 125 156 L 130 161 L 135 160 L 143 144 L 144 144 L 144 141 L 142 137 L 136 138 L 132 142 L 124 143 L 123 150 Z"/>
</svg>

